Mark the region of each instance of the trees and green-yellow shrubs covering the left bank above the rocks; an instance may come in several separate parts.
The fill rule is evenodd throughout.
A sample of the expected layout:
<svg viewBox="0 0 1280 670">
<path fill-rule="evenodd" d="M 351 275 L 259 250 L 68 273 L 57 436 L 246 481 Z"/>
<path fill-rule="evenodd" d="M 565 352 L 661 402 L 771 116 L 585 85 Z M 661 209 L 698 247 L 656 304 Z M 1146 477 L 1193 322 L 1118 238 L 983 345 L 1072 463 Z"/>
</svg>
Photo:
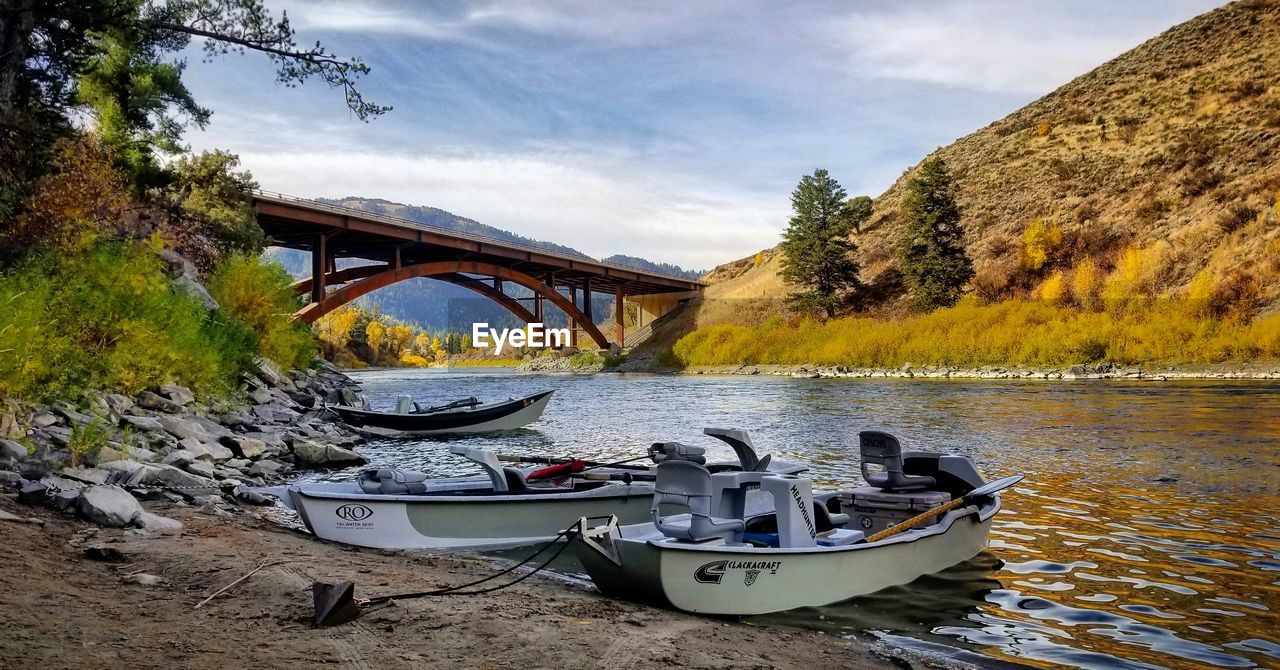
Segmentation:
<svg viewBox="0 0 1280 670">
<path fill-rule="evenodd" d="M 0 13 L 0 396 L 79 400 L 177 383 L 233 393 L 257 357 L 314 361 L 289 277 L 259 255 L 252 177 L 188 154 L 201 108 L 170 60 L 269 54 L 278 78 L 343 88 L 361 119 L 387 110 L 367 72 L 298 49 L 260 0 L 27 3 Z M 207 290 L 206 290 L 207 286 Z"/>
</svg>

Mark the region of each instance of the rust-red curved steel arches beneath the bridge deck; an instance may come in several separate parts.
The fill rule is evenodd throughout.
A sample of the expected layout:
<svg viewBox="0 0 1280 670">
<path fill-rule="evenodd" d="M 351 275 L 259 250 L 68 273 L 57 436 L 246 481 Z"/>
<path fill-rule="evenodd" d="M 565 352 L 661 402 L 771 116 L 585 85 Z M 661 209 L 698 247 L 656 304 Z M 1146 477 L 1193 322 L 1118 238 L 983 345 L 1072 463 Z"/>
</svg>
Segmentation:
<svg viewBox="0 0 1280 670">
<path fill-rule="evenodd" d="M 413 265 L 404 265 L 401 268 L 388 268 L 387 265 L 364 265 L 358 268 L 347 268 L 344 270 L 338 270 L 325 275 L 325 282 L 349 282 L 342 288 L 333 292 L 325 293 L 324 298 L 319 302 L 310 302 L 294 314 L 294 318 L 303 323 L 312 323 L 320 316 L 361 297 L 366 293 L 390 286 L 397 282 L 403 282 L 406 279 L 413 279 L 417 277 L 426 277 L 430 279 L 440 279 L 444 282 L 454 283 L 465 288 L 470 288 L 481 295 L 490 297 L 502 306 L 507 307 L 512 314 L 530 323 L 534 320 L 534 315 L 525 309 L 524 305 L 517 302 L 511 296 L 507 296 L 502 291 L 490 287 L 477 279 L 466 277 L 466 274 L 483 274 L 488 277 L 494 277 L 497 279 L 504 279 L 508 282 L 515 282 L 525 288 L 529 288 L 534 293 L 549 300 L 553 305 L 561 309 L 568 315 L 570 320 L 593 342 L 600 348 L 608 348 L 609 341 L 604 337 L 604 333 L 591 322 L 590 316 L 584 314 L 573 301 L 559 295 L 553 287 L 548 286 L 543 281 L 525 274 L 520 270 L 507 268 L 503 265 L 495 265 L 492 263 L 483 261 L 461 261 L 461 260 L 447 260 L 447 261 L 431 261 L 431 263 L 417 263 Z M 307 292 L 311 291 L 311 279 L 302 279 L 293 284 L 294 291 Z"/>
</svg>

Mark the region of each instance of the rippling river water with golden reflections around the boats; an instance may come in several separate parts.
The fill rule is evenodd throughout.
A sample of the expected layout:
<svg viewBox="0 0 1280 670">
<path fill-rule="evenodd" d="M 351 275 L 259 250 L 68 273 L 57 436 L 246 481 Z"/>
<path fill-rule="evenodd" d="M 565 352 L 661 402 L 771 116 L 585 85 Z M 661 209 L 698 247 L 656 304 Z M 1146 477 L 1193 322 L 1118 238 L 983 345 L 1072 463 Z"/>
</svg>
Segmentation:
<svg viewBox="0 0 1280 670">
<path fill-rule="evenodd" d="M 543 419 L 467 438 L 512 453 L 626 457 L 703 427 L 750 430 L 808 462 L 815 488 L 859 486 L 858 432 L 973 457 L 1004 496 L 991 550 L 837 606 L 755 617 L 979 664 L 1280 666 L 1280 384 L 525 375 L 353 375 L 375 407 L 554 388 Z M 445 441 L 375 441 L 375 465 L 472 471 Z M 351 473 L 337 473 L 346 477 Z M 573 568 L 566 568 L 572 573 Z"/>
</svg>

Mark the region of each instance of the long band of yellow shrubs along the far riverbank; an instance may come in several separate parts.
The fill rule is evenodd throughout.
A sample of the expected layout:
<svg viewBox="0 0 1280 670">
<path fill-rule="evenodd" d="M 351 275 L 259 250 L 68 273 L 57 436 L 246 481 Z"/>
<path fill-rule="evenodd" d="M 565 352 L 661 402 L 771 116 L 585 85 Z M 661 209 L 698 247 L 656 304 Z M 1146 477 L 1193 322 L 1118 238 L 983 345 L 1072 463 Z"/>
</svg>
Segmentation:
<svg viewBox="0 0 1280 670">
<path fill-rule="evenodd" d="M 1213 363 L 1274 356 L 1280 315 L 1253 324 L 1194 316 L 1174 300 L 1130 310 L 1082 311 L 1039 301 L 980 305 L 973 297 L 919 316 L 768 319 L 718 324 L 680 338 L 659 357 L 672 368 L 742 364 L 1065 366 L 1111 360 Z"/>
</svg>

